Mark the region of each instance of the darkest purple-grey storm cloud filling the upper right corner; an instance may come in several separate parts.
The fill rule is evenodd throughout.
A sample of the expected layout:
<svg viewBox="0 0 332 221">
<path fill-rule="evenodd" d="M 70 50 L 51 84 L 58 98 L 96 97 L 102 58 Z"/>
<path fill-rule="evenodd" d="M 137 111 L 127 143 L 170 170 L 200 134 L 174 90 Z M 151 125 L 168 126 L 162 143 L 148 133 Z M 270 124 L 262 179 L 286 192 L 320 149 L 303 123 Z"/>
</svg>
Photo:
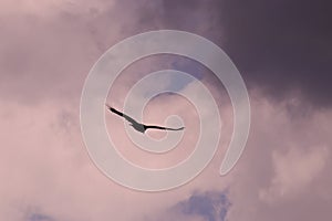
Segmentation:
<svg viewBox="0 0 332 221">
<path fill-rule="evenodd" d="M 225 50 L 249 82 L 274 97 L 300 90 L 314 104 L 332 104 L 332 17 L 323 1 L 236 0 L 222 8 Z"/>
</svg>

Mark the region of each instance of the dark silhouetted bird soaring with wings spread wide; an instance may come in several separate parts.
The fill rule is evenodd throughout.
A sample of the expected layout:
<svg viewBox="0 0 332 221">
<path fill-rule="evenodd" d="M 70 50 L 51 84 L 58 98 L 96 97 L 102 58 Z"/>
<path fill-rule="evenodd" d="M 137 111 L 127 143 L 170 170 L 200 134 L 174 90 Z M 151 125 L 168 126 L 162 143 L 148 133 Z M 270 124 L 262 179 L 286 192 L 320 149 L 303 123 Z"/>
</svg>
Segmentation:
<svg viewBox="0 0 332 221">
<path fill-rule="evenodd" d="M 106 104 L 106 107 L 108 108 L 110 112 L 125 118 L 127 122 L 129 122 L 131 126 L 136 129 L 137 131 L 144 134 L 147 129 L 163 129 L 163 130 L 183 130 L 185 127 L 179 127 L 179 128 L 169 128 L 169 127 L 162 127 L 162 126 L 155 126 L 155 125 L 145 125 L 136 122 L 128 115 L 125 115 L 122 112 L 118 112 L 117 109 L 111 107 L 110 105 Z"/>
</svg>

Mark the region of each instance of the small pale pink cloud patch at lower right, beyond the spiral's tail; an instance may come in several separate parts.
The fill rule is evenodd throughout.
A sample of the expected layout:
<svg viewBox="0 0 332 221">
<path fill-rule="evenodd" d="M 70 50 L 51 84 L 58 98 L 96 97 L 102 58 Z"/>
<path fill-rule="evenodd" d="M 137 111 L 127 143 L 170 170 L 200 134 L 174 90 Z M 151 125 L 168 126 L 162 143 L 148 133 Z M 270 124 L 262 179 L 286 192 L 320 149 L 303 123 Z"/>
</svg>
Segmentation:
<svg viewBox="0 0 332 221">
<path fill-rule="evenodd" d="M 286 154 L 274 150 L 272 152 L 274 177 L 270 187 L 259 192 L 260 198 L 273 202 L 303 193 L 322 172 L 328 159 L 328 148 L 313 147 L 309 150 L 289 148 Z"/>
</svg>

